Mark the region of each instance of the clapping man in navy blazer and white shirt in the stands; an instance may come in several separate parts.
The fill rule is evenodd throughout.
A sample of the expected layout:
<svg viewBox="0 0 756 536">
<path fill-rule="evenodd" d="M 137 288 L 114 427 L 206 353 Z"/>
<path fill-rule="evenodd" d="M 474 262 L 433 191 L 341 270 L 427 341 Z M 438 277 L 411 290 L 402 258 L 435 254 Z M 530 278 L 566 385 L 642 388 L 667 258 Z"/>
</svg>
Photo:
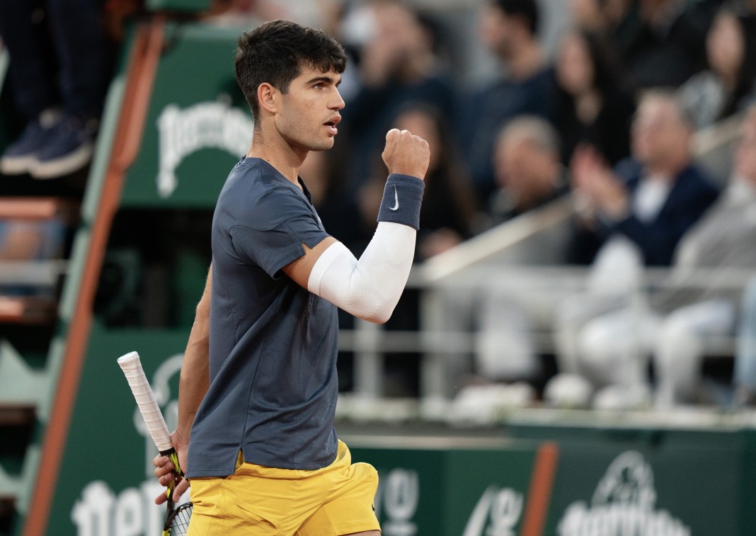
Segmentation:
<svg viewBox="0 0 756 536">
<path fill-rule="evenodd" d="M 634 267 L 669 265 L 680 237 L 716 200 L 717 190 L 692 163 L 691 136 L 692 124 L 674 92 L 654 90 L 640 100 L 631 158 L 612 171 L 593 150 L 575 154 L 578 228 L 568 259 L 592 265 L 586 292 L 567 296 L 556 307 L 560 373 L 578 372 L 578 333 L 584 324 L 631 301 L 638 277 Z M 637 370 L 632 373 L 639 377 Z M 623 374 L 631 380 L 630 372 Z"/>
</svg>

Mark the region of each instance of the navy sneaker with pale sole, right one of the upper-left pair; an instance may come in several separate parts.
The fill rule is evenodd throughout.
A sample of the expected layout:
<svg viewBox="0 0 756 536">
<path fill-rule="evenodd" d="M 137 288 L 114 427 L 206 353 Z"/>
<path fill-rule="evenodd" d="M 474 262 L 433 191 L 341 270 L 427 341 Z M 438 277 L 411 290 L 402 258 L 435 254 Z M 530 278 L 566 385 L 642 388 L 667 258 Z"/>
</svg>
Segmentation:
<svg viewBox="0 0 756 536">
<path fill-rule="evenodd" d="M 82 169 L 95 149 L 97 121 L 65 114 L 48 132 L 29 169 L 34 178 L 57 178 Z"/>
</svg>

